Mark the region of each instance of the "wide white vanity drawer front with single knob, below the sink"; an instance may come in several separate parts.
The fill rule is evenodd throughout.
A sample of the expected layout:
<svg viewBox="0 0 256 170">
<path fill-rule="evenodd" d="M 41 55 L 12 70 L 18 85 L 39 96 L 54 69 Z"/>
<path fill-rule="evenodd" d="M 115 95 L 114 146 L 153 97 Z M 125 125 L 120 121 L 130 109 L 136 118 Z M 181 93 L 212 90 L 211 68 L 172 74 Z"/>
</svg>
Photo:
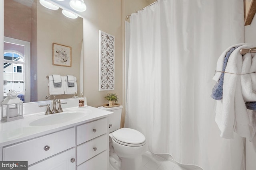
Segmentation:
<svg viewBox="0 0 256 170">
<path fill-rule="evenodd" d="M 66 129 L 3 148 L 3 160 L 28 161 L 28 165 L 75 146 L 75 128 Z"/>
</svg>

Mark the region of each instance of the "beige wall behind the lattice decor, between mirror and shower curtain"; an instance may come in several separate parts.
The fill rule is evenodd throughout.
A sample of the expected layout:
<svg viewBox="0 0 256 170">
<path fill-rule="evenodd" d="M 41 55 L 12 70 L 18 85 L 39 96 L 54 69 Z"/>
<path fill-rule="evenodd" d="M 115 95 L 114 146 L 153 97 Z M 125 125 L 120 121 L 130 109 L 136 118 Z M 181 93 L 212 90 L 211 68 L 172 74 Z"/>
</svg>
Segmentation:
<svg viewBox="0 0 256 170">
<path fill-rule="evenodd" d="M 84 96 L 89 106 L 108 104 L 107 93 L 122 101 L 122 23 L 120 0 L 86 1 L 84 18 Z M 99 30 L 115 37 L 115 89 L 99 91 Z"/>
</svg>

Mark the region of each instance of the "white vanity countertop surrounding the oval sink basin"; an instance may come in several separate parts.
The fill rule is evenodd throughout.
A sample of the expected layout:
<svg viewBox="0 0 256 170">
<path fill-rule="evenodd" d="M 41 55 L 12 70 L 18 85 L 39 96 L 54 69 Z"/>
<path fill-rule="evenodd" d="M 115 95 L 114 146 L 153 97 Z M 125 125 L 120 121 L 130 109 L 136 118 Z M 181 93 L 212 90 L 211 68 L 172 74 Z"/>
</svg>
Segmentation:
<svg viewBox="0 0 256 170">
<path fill-rule="evenodd" d="M 82 115 L 81 113 L 86 114 L 79 116 L 77 119 L 60 121 L 58 124 L 35 126 L 32 123 L 38 119 L 44 119 L 45 117 L 56 116 L 57 114 L 65 114 L 70 112 L 74 114 L 77 112 L 78 114 L 80 113 L 80 115 Z M 0 147 L 67 129 L 69 127 L 74 127 L 78 124 L 87 123 L 96 119 L 107 117 L 110 114 L 112 114 L 112 112 L 91 106 L 85 106 L 83 108 L 71 107 L 63 109 L 63 112 L 61 113 L 45 115 L 44 112 L 40 112 L 24 115 L 24 119 L 18 119 L 10 122 L 0 122 Z"/>
</svg>

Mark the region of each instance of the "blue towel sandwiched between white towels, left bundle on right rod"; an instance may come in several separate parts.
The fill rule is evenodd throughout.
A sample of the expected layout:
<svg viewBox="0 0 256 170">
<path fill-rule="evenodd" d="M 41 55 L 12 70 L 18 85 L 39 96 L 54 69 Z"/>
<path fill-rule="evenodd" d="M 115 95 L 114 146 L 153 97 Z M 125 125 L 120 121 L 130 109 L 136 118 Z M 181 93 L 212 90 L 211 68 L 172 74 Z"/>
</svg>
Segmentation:
<svg viewBox="0 0 256 170">
<path fill-rule="evenodd" d="M 238 46 L 239 47 L 239 46 Z M 222 94 L 223 94 L 223 81 L 224 81 L 224 72 L 226 70 L 226 66 L 228 64 L 228 59 L 231 55 L 231 53 L 238 47 L 233 47 L 232 49 L 230 49 L 230 51 L 228 51 L 228 53 L 226 54 L 226 56 L 224 57 L 224 61 L 223 61 L 223 66 L 222 66 L 222 73 L 220 75 L 220 80 L 215 84 L 215 86 L 212 89 L 212 94 L 211 97 L 214 100 L 221 100 L 222 99 Z M 218 71 L 218 70 L 217 70 Z"/>
</svg>

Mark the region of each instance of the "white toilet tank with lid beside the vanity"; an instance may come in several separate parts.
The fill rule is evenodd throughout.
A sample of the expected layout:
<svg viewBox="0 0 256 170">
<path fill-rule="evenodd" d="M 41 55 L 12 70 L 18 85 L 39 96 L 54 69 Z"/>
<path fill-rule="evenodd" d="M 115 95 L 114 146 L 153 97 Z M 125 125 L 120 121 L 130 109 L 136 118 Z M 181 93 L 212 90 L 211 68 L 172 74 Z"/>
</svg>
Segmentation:
<svg viewBox="0 0 256 170">
<path fill-rule="evenodd" d="M 122 115 L 122 108 L 123 108 L 122 105 L 117 107 L 111 107 L 111 108 L 100 106 L 98 108 L 113 112 L 113 114 L 108 116 L 108 123 L 112 125 L 109 128 L 109 133 L 116 131 L 117 129 L 120 129 L 121 115 Z"/>
</svg>

